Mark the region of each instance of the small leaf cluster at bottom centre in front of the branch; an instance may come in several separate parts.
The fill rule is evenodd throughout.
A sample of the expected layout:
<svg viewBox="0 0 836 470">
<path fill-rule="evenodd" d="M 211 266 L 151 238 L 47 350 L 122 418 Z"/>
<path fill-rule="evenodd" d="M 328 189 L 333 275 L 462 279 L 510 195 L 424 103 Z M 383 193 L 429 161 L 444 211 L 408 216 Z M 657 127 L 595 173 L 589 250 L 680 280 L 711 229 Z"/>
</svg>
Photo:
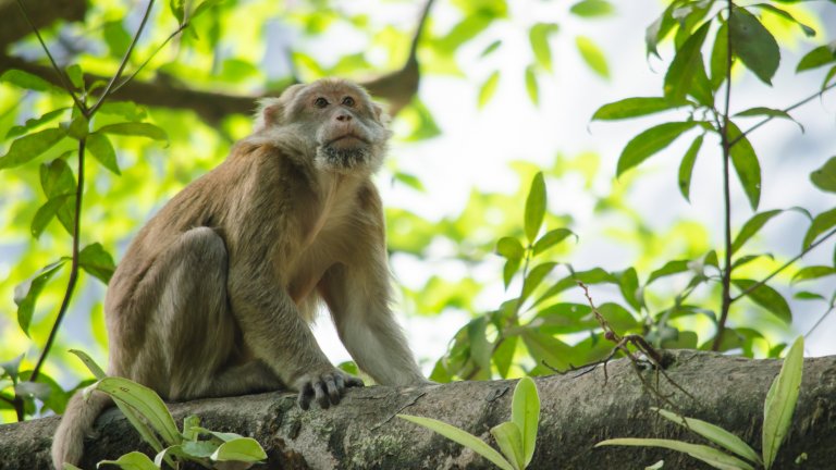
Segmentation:
<svg viewBox="0 0 836 470">
<path fill-rule="evenodd" d="M 443 421 L 411 415 L 397 415 L 397 417 L 462 444 L 503 470 L 520 470 L 528 467 L 534 456 L 537 426 L 540 422 L 540 396 L 531 379 L 522 378 L 517 382 L 512 398 L 511 421 L 491 428 L 491 435 L 502 454 L 479 437 Z"/>
</svg>

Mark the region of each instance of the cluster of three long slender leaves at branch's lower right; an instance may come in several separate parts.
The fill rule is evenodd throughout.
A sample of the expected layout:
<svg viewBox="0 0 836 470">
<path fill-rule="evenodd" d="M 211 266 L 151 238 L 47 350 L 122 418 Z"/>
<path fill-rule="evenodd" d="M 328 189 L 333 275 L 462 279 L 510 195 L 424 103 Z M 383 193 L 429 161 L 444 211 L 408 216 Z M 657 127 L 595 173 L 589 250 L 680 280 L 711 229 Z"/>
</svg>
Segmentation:
<svg viewBox="0 0 836 470">
<path fill-rule="evenodd" d="M 612 438 L 595 444 L 662 447 L 686 453 L 691 457 L 718 469 L 753 470 L 752 465 L 772 468 L 775 456 L 789 432 L 792 423 L 792 412 L 798 401 L 799 387 L 801 386 L 801 372 L 803 361 L 804 339 L 799 336 L 787 352 L 787 357 L 780 367 L 780 372 L 772 382 L 766 401 L 763 406 L 763 450 L 758 455 L 746 442 L 729 433 L 723 428 L 694 418 L 685 418 L 675 412 L 654 408 L 663 418 L 673 421 L 686 429 L 711 441 L 723 450 L 706 445 L 690 444 L 674 440 L 659 438 Z M 734 454 L 734 455 L 733 455 Z M 741 460 L 739 457 L 746 459 Z"/>
</svg>

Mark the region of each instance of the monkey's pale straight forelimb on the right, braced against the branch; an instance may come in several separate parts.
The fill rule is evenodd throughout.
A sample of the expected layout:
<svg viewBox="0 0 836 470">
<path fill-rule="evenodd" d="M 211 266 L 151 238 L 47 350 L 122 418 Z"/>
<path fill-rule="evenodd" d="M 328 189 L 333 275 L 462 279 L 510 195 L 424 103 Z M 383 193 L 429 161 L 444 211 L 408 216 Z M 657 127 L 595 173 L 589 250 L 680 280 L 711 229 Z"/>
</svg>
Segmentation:
<svg viewBox="0 0 836 470">
<path fill-rule="evenodd" d="M 357 366 L 382 385 L 427 383 L 390 304 L 385 252 L 364 264 L 336 264 L 320 284 L 340 338 Z"/>
</svg>

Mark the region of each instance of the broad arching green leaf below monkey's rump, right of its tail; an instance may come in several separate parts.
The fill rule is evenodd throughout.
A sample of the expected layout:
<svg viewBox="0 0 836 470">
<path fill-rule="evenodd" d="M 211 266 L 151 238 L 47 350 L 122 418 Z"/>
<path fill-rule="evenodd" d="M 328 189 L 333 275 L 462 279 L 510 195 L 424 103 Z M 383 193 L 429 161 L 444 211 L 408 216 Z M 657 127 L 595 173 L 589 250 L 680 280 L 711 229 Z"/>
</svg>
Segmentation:
<svg viewBox="0 0 836 470">
<path fill-rule="evenodd" d="M 136 410 L 168 445 L 183 440 L 165 404 L 152 389 L 122 378 L 104 378 L 94 388 L 110 395 L 116 405 Z"/>
</svg>

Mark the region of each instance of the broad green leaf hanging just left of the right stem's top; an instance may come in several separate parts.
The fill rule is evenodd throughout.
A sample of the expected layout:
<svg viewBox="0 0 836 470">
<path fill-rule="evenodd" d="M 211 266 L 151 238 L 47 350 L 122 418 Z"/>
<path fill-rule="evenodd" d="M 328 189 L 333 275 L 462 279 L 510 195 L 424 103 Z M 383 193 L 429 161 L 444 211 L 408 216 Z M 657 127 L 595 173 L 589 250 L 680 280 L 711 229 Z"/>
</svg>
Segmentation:
<svg viewBox="0 0 836 470">
<path fill-rule="evenodd" d="M 665 97 L 672 101 L 683 101 L 692 95 L 703 104 L 711 106 L 713 97 L 705 64 L 702 61 L 702 44 L 709 34 L 711 22 L 705 22 L 676 51 L 671 66 L 665 74 Z"/>
</svg>

